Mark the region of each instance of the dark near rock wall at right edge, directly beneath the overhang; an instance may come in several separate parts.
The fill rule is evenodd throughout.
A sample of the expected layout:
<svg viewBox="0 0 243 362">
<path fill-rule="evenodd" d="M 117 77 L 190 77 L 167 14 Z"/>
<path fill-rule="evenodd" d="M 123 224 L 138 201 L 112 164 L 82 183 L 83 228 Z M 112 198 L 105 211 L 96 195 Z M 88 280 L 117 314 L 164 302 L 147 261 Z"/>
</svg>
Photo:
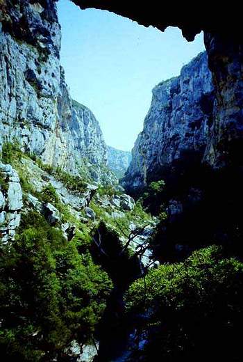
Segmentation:
<svg viewBox="0 0 243 362">
<path fill-rule="evenodd" d="M 213 127 L 205 160 L 213 168 L 243 164 L 243 42 L 239 36 L 205 33 L 215 86 Z"/>
</svg>

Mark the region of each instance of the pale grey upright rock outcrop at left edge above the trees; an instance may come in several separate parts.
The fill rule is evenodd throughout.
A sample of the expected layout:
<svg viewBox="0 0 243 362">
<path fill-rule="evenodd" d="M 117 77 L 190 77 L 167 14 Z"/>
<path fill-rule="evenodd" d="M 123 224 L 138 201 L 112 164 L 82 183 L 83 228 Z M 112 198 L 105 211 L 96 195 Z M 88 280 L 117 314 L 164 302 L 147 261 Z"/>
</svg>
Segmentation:
<svg viewBox="0 0 243 362">
<path fill-rule="evenodd" d="M 22 189 L 17 172 L 0 163 L 0 241 L 6 244 L 15 237 L 22 209 Z M 0 244 L 1 244 L 0 243 Z"/>
</svg>

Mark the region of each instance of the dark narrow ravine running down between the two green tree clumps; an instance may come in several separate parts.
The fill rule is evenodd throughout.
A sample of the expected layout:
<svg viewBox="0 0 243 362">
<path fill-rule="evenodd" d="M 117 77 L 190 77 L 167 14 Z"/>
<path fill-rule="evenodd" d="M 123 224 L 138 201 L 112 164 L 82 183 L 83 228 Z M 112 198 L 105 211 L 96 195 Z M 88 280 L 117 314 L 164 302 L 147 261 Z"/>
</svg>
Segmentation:
<svg viewBox="0 0 243 362">
<path fill-rule="evenodd" d="M 153 228 L 155 225 L 154 223 Z M 142 248 L 148 246 L 153 228 L 149 228 L 149 233 L 144 233 L 146 228 L 137 230 L 136 237 L 131 239 L 131 244 L 136 242 Z M 99 353 L 96 361 L 121 361 L 126 353 L 134 322 L 125 317 L 124 294 L 131 283 L 137 278 L 142 278 L 148 267 L 154 263 L 152 256 L 151 258 L 144 257 L 143 249 L 138 248 L 138 251 L 131 255 L 129 249 L 124 249 L 124 244 L 126 245 L 128 240 L 121 243 L 118 235 L 111 233 L 105 225 L 101 225 L 96 230 L 93 238 L 101 240 L 100 247 L 94 248 L 94 258 L 98 258 L 114 285 L 98 327 Z M 97 246 L 97 243 L 95 244 Z"/>
</svg>

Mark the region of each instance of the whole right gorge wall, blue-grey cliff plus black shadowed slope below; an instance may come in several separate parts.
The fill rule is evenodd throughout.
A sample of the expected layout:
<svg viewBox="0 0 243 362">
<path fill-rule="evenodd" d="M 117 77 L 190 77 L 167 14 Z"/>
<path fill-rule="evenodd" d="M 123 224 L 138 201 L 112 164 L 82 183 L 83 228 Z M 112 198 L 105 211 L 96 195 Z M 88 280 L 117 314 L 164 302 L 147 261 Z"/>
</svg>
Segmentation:
<svg viewBox="0 0 243 362">
<path fill-rule="evenodd" d="M 229 42 L 226 56 L 220 38 L 206 40 L 213 77 L 204 53 L 156 86 L 124 178 L 134 193 L 165 180 L 159 201 L 167 219 L 154 239 L 162 261 L 212 242 L 243 253 L 240 50 Z"/>
</svg>

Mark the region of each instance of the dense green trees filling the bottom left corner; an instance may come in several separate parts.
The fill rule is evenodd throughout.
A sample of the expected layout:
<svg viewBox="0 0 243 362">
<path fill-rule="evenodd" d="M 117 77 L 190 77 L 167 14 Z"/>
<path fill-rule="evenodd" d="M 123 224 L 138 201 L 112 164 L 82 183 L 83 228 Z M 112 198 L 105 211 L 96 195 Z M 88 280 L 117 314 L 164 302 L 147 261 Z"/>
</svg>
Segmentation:
<svg viewBox="0 0 243 362">
<path fill-rule="evenodd" d="M 15 243 L 2 247 L 0 258 L 5 361 L 51 361 L 64 357 L 72 340 L 92 338 L 112 285 L 87 244 L 87 233 L 66 242 L 37 212 L 23 215 Z"/>
</svg>

